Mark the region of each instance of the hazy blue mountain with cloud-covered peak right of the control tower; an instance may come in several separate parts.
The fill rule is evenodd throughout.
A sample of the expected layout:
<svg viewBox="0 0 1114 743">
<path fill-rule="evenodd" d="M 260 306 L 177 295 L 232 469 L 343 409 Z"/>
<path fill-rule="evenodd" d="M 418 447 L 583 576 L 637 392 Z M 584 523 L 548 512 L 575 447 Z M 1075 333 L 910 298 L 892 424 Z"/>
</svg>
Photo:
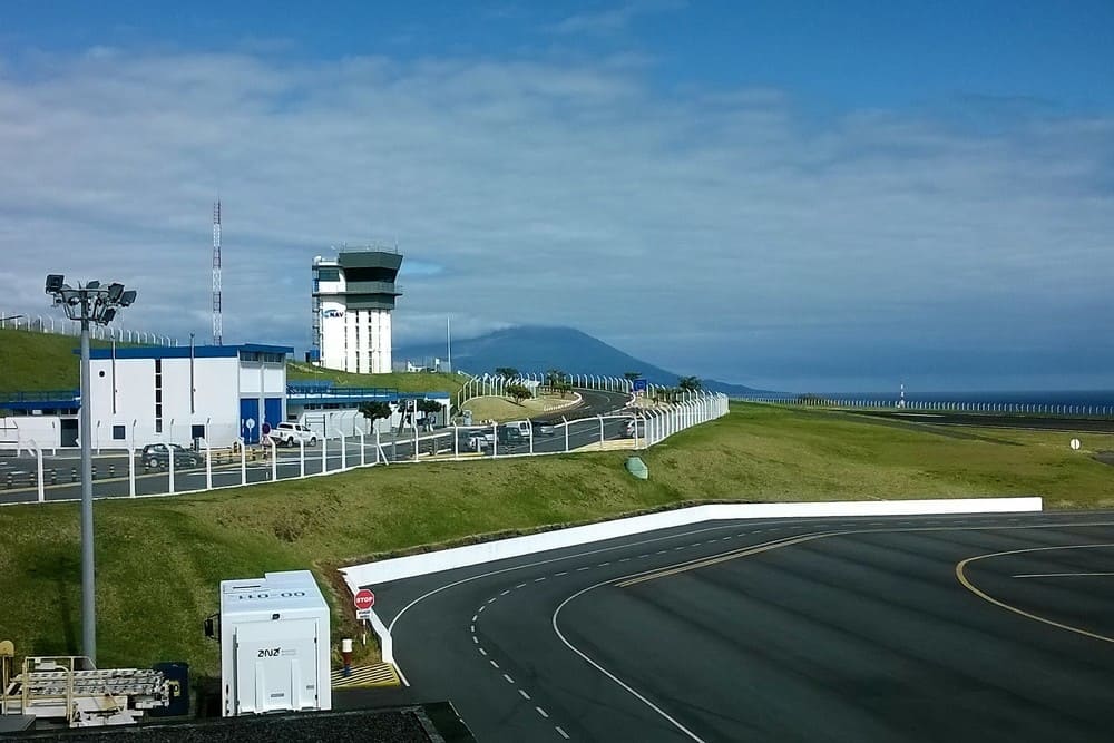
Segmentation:
<svg viewBox="0 0 1114 743">
<path fill-rule="evenodd" d="M 430 364 L 444 358 L 444 344 L 419 343 L 395 346 L 395 362 L 405 360 Z M 470 373 L 494 372 L 499 366 L 514 366 L 521 372 L 545 372 L 560 369 L 569 374 L 609 374 L 622 377 L 637 371 L 654 384 L 675 385 L 676 374 L 624 353 L 599 339 L 573 327 L 518 326 L 497 330 L 479 338 L 452 342 L 452 365 Z M 705 390 L 726 394 L 759 392 L 742 384 L 729 384 L 702 379 Z"/>
</svg>

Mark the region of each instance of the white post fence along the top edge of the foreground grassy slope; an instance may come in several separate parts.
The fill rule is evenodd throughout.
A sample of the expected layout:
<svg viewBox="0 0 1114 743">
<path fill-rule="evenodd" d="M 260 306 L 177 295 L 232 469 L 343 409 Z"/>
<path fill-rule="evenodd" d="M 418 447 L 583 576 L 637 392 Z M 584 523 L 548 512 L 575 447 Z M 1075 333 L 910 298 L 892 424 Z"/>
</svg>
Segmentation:
<svg viewBox="0 0 1114 743">
<path fill-rule="evenodd" d="M 563 419 L 560 423 L 529 426 L 525 431 L 495 423 L 392 434 L 373 429 L 368 421 L 354 423 L 353 429 L 343 424 L 353 421 L 335 421 L 338 428 L 331 438 L 321 439 L 315 447 L 303 442 L 280 448 L 268 441 L 258 447 L 217 450 L 203 441 L 199 451 L 186 450 L 182 460 L 168 456 L 165 462 L 154 466 L 152 460 L 143 461 L 134 449 L 106 454 L 94 463 L 94 496 L 168 496 L 402 462 L 635 451 L 726 413 L 726 395 L 692 392 L 676 403 L 654 409 Z M 72 451 L 66 457 L 59 458 L 56 452 L 48 458 L 45 449 L 49 447 L 33 440 L 21 441 L 19 447 L 28 456 L 0 458 L 0 505 L 45 502 L 48 493 L 50 501 L 80 497 L 80 460 Z"/>
</svg>

